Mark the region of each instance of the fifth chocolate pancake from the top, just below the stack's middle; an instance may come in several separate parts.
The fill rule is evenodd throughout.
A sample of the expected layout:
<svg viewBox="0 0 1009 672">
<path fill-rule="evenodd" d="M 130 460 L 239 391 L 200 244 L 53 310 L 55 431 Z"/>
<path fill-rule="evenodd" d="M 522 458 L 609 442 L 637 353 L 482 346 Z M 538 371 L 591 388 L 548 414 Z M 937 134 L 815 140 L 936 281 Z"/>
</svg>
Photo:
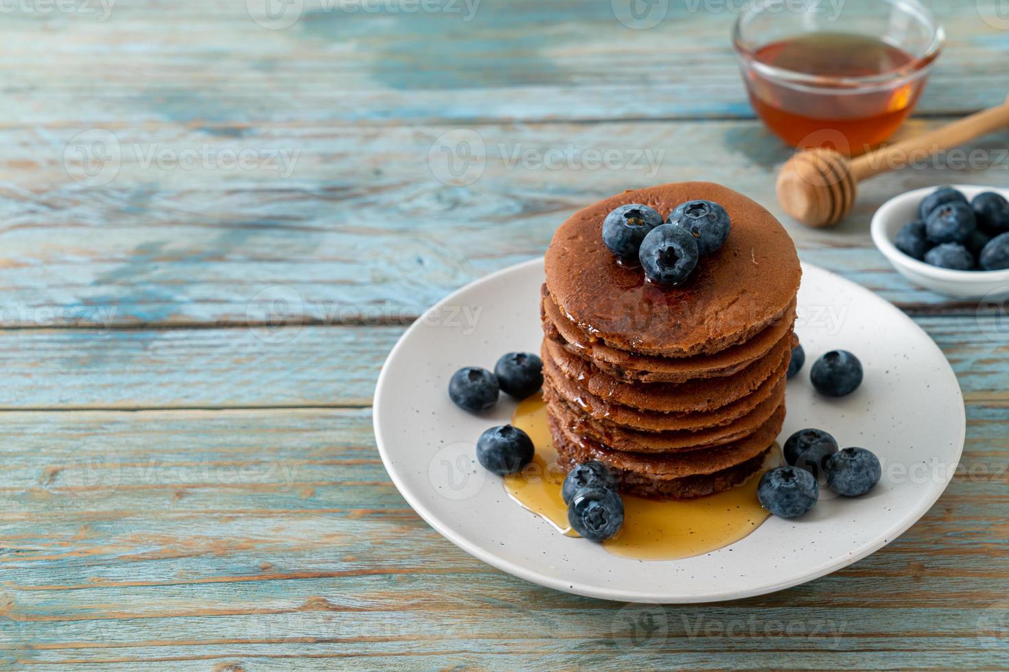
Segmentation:
<svg viewBox="0 0 1009 672">
<path fill-rule="evenodd" d="M 688 452 L 740 441 L 770 419 L 785 400 L 785 382 L 780 380 L 774 393 L 743 417 L 728 424 L 698 430 L 643 432 L 605 420 L 596 420 L 558 397 L 548 384 L 544 399 L 554 416 L 579 436 L 598 441 L 613 450 L 632 452 Z"/>
</svg>

